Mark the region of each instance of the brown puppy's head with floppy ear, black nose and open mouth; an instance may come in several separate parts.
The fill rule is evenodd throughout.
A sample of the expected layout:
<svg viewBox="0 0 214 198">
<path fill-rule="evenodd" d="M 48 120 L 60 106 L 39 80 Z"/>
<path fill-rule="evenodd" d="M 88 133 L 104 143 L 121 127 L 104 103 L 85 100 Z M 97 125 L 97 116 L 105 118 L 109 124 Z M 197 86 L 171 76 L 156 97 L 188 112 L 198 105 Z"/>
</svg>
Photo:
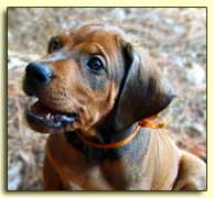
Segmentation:
<svg viewBox="0 0 214 198">
<path fill-rule="evenodd" d="M 39 99 L 26 120 L 40 132 L 95 135 L 113 110 L 122 129 L 171 101 L 146 54 L 133 50 L 118 29 L 99 24 L 53 37 L 49 54 L 26 66 L 23 89 Z"/>
</svg>

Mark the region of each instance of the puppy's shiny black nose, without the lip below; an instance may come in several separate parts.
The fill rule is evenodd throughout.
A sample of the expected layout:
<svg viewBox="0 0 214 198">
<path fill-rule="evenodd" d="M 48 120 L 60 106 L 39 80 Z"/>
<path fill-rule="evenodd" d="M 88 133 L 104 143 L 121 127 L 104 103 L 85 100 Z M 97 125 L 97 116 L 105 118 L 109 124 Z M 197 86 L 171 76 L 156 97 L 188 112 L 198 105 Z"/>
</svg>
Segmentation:
<svg viewBox="0 0 214 198">
<path fill-rule="evenodd" d="M 47 65 L 30 63 L 26 66 L 26 78 L 34 86 L 47 85 L 52 79 L 52 70 Z"/>
</svg>

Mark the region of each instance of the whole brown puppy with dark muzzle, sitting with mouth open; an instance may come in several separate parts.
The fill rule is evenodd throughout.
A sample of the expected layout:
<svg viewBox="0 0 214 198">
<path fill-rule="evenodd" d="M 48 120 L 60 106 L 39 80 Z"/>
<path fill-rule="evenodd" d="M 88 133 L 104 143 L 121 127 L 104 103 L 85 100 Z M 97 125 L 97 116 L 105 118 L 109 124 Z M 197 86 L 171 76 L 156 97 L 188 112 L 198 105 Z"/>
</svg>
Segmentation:
<svg viewBox="0 0 214 198">
<path fill-rule="evenodd" d="M 147 53 L 120 30 L 89 24 L 53 37 L 49 54 L 28 65 L 23 89 L 39 98 L 26 113 L 29 124 L 51 133 L 44 189 L 206 188 L 205 164 L 179 150 L 165 131 L 136 133 L 138 122 L 173 95 Z"/>
</svg>

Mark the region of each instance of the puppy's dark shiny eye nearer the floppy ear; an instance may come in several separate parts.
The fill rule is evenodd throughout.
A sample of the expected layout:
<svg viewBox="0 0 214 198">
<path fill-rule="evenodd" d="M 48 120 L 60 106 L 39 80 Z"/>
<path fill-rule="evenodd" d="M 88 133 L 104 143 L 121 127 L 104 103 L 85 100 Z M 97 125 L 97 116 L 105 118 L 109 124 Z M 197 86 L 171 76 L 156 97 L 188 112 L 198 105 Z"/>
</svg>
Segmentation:
<svg viewBox="0 0 214 198">
<path fill-rule="evenodd" d="M 88 59 L 87 67 L 95 74 L 99 74 L 101 70 L 105 69 L 101 58 L 97 56 L 93 56 Z"/>
</svg>

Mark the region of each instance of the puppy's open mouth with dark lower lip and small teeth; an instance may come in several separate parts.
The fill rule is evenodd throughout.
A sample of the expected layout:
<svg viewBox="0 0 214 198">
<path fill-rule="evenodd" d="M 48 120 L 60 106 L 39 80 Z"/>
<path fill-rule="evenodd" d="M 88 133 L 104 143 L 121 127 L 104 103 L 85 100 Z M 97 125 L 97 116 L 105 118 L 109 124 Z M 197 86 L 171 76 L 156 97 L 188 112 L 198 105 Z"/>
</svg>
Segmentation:
<svg viewBox="0 0 214 198">
<path fill-rule="evenodd" d="M 47 132 L 50 131 L 66 131 L 67 125 L 76 122 L 78 114 L 76 112 L 66 113 L 53 110 L 40 100 L 36 101 L 26 111 L 26 121 L 36 131 Z"/>
</svg>

